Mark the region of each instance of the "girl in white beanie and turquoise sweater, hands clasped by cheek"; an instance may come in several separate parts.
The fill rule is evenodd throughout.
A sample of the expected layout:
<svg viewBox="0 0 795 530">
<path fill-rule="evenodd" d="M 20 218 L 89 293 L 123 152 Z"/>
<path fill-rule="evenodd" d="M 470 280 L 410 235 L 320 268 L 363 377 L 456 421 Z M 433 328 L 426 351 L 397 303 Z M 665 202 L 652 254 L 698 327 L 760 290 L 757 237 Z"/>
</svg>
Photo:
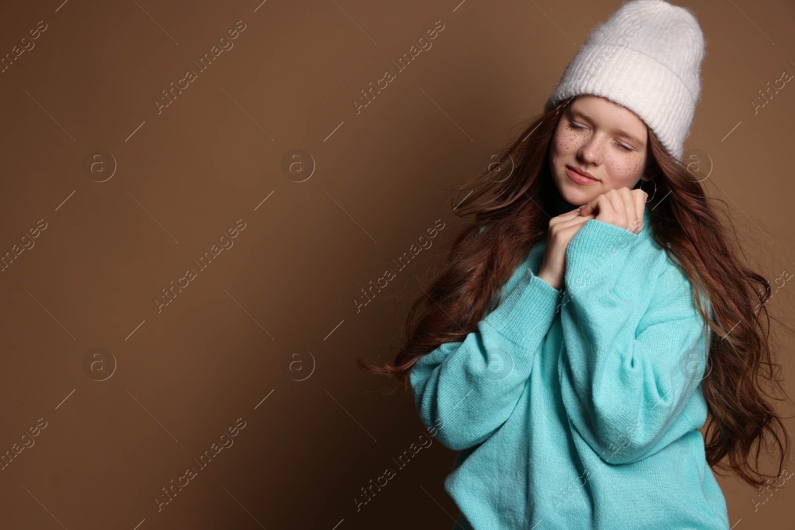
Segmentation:
<svg viewBox="0 0 795 530">
<path fill-rule="evenodd" d="M 770 284 L 682 161 L 703 58 L 696 17 L 661 0 L 593 29 L 502 169 L 460 188 L 483 184 L 475 220 L 394 363 L 359 362 L 460 451 L 455 528 L 726 530 L 712 466 L 761 486 L 748 457 L 772 440 L 781 476 Z"/>
</svg>

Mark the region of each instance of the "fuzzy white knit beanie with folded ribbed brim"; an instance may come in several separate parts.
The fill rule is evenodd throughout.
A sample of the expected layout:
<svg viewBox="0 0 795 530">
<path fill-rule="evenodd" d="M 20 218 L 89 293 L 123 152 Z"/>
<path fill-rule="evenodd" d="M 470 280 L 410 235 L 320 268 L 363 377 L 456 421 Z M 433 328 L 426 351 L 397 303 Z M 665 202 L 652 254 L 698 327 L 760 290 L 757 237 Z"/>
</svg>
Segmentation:
<svg viewBox="0 0 795 530">
<path fill-rule="evenodd" d="M 692 11 L 664 0 L 632 0 L 591 29 L 549 103 L 599 95 L 646 122 L 678 161 L 701 100 L 704 34 Z"/>
</svg>

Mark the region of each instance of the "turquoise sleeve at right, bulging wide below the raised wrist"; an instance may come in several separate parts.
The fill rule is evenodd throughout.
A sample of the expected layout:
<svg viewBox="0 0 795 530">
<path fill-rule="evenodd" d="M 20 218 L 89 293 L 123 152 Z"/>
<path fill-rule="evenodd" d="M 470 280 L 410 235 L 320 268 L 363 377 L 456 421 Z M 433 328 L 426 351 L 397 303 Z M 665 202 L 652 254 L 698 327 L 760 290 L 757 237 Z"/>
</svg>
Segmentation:
<svg viewBox="0 0 795 530">
<path fill-rule="evenodd" d="M 688 277 L 644 252 L 648 241 L 631 253 L 642 237 L 591 219 L 566 250 L 561 397 L 572 426 L 614 464 L 653 455 L 694 428 L 682 411 L 708 352 Z"/>
</svg>

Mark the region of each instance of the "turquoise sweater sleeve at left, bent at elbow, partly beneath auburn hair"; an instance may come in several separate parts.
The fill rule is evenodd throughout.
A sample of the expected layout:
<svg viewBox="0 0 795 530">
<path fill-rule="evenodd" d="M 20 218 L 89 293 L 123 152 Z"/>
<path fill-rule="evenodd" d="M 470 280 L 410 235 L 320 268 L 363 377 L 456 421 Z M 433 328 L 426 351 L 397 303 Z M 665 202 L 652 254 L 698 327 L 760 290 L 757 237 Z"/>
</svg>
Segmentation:
<svg viewBox="0 0 795 530">
<path fill-rule="evenodd" d="M 513 412 L 533 358 L 558 311 L 560 291 L 528 268 L 462 342 L 446 342 L 409 373 L 422 422 L 461 451 L 483 442 Z"/>
</svg>

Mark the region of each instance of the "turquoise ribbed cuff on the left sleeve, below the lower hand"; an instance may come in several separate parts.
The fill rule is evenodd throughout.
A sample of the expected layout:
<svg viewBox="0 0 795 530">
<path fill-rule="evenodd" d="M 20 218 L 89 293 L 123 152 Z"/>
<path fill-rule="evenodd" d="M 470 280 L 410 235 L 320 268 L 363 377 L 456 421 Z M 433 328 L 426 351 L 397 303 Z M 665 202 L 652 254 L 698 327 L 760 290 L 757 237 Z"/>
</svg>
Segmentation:
<svg viewBox="0 0 795 530">
<path fill-rule="evenodd" d="M 527 269 L 483 321 L 517 346 L 535 350 L 552 325 L 561 296 L 562 292 Z"/>
</svg>

